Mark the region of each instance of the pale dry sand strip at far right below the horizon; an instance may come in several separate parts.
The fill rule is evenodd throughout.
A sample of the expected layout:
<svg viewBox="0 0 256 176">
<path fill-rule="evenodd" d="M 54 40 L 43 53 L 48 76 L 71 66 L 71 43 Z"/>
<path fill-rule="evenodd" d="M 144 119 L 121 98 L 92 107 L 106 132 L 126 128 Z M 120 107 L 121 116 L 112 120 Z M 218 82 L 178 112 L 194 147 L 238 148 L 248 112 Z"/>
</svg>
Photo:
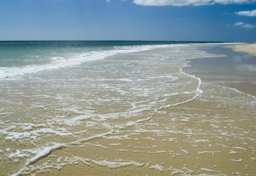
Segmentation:
<svg viewBox="0 0 256 176">
<path fill-rule="evenodd" d="M 239 44 L 239 45 L 226 45 L 226 48 L 231 48 L 234 51 L 247 53 L 256 56 L 256 43 L 252 44 Z"/>
</svg>

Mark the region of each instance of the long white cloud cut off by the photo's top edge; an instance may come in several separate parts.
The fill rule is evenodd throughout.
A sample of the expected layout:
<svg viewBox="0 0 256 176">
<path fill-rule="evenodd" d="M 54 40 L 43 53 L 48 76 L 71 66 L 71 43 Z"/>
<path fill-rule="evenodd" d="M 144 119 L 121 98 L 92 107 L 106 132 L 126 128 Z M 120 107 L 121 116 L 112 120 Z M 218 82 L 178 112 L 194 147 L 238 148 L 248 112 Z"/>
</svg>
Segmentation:
<svg viewBox="0 0 256 176">
<path fill-rule="evenodd" d="M 256 0 L 133 0 L 136 5 L 142 6 L 202 6 L 255 3 Z"/>
</svg>

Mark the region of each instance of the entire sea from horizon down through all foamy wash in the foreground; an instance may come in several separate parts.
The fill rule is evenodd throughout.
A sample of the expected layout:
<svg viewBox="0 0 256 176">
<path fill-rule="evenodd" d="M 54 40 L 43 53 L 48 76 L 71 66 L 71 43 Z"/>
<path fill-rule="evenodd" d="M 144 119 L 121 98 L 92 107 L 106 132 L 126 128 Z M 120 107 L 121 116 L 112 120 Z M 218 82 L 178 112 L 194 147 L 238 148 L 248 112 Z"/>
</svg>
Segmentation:
<svg viewBox="0 0 256 176">
<path fill-rule="evenodd" d="M 255 97 L 183 71 L 221 45 L 1 41 L 0 175 L 254 173 Z"/>
</svg>

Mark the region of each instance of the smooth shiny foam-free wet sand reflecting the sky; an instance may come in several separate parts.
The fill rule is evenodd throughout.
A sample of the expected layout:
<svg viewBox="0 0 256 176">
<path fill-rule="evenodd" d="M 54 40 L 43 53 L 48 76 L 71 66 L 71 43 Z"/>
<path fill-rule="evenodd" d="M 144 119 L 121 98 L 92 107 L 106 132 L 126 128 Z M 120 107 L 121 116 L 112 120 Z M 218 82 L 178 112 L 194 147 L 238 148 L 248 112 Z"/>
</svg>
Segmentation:
<svg viewBox="0 0 256 176">
<path fill-rule="evenodd" d="M 191 67 L 184 70 L 195 75 L 208 83 L 215 83 L 226 87 L 235 88 L 238 91 L 256 96 L 256 57 L 249 55 L 251 48 L 256 45 L 228 45 L 228 48 L 240 47 L 243 52 L 237 53 L 230 49 L 217 46 L 215 48 L 205 48 L 209 53 L 225 55 L 218 58 L 198 58 L 189 60 Z M 256 50 L 256 48 L 255 48 Z"/>
</svg>

